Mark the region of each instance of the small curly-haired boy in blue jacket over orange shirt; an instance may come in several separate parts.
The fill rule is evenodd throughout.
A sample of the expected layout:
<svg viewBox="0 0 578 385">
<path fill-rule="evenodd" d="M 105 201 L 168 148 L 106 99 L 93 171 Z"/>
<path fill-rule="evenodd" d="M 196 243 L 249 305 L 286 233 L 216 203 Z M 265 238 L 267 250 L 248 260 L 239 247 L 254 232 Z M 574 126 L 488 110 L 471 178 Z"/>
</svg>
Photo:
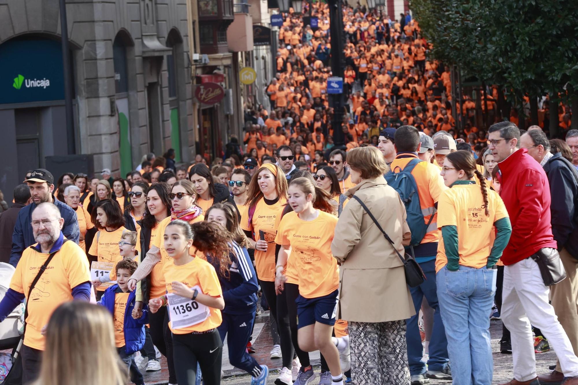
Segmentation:
<svg viewBox="0 0 578 385">
<path fill-rule="evenodd" d="M 128 279 L 137 266 L 133 260 L 119 261 L 116 264 L 117 284 L 106 289 L 98 304 L 108 309 L 114 317 L 114 342 L 118 355 L 128 366 L 131 381 L 136 385 L 144 385 L 134 354 L 144 346 L 144 325 L 149 323 L 149 312 L 144 306 L 142 316 L 134 319 L 131 314 L 135 307 L 135 292 L 128 291 Z"/>
</svg>

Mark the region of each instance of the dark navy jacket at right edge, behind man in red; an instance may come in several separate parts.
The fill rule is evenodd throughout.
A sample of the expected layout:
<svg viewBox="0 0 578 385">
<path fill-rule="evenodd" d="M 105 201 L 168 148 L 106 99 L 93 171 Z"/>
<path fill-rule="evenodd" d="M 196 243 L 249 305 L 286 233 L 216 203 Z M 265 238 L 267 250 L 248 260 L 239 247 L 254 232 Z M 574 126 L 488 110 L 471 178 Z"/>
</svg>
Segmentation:
<svg viewBox="0 0 578 385">
<path fill-rule="evenodd" d="M 561 153 L 554 154 L 544 165 L 550 182 L 552 234 L 558 250 L 565 247 L 578 259 L 578 172 Z"/>
</svg>

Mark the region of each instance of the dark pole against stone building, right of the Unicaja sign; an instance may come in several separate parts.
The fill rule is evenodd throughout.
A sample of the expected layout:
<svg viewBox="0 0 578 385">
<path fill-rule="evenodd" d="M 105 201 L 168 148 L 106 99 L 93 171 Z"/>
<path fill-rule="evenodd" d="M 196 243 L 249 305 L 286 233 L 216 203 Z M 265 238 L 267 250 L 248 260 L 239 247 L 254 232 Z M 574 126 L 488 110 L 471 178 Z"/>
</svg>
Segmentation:
<svg viewBox="0 0 578 385">
<path fill-rule="evenodd" d="M 74 113 L 72 111 L 72 68 L 68 46 L 68 24 L 66 22 L 66 3 L 60 0 L 60 31 L 62 42 L 62 71 L 64 71 L 64 106 L 66 114 L 66 139 L 68 154 L 76 153 Z"/>
</svg>

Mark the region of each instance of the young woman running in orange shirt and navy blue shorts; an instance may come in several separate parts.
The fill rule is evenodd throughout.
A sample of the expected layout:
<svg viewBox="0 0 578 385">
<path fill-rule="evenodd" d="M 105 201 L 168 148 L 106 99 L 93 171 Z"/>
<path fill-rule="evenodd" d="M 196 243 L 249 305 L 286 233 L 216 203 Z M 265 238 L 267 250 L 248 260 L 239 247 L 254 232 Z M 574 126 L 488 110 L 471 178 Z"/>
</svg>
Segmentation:
<svg viewBox="0 0 578 385">
<path fill-rule="evenodd" d="M 293 209 L 279 224 L 281 245 L 275 266 L 276 290 L 283 290 L 288 258 L 298 260 L 298 342 L 304 351 L 320 350 L 331 371 L 332 384 L 342 385 L 339 351 L 332 342 L 338 303 L 339 269 L 331 253 L 337 217 L 313 208 L 317 194 L 328 194 L 301 177 L 291 181 L 288 202 Z M 290 255 L 291 254 L 291 255 Z"/>
</svg>

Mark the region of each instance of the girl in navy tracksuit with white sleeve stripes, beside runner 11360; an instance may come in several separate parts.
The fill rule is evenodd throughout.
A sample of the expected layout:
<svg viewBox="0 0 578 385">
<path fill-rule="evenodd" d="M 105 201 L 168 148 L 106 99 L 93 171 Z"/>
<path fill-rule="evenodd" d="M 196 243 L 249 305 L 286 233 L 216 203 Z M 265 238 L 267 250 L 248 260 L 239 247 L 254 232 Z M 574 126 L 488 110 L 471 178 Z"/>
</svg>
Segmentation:
<svg viewBox="0 0 578 385">
<path fill-rule="evenodd" d="M 205 221 L 204 227 L 200 223 L 195 225 L 193 246 L 205 253 L 223 289 L 225 309 L 218 332 L 223 341 L 227 336 L 231 365 L 253 376 L 251 385 L 264 385 L 269 368 L 259 365 L 246 349 L 257 310 L 257 276 L 245 247 L 245 235 L 239 228 L 237 212 L 229 203 L 216 203 L 207 211 Z M 224 259 L 214 256 L 223 255 L 227 249 L 231 263 L 221 269 Z"/>
</svg>

